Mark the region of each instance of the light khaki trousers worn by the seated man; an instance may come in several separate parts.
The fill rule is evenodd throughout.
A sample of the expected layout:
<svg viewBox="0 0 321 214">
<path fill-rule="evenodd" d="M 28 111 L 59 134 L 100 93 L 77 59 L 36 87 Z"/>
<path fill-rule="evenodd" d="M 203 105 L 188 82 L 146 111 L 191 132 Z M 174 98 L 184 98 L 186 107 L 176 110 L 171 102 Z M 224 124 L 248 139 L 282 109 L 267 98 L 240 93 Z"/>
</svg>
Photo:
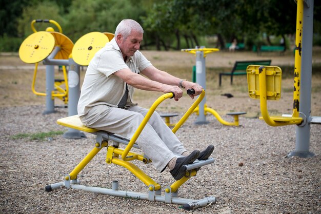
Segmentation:
<svg viewBox="0 0 321 214">
<path fill-rule="evenodd" d="M 87 114 L 80 116 L 80 119 L 85 126 L 131 139 L 147 112 L 147 109 L 139 106 L 129 107 L 126 110 L 97 105 L 91 107 Z M 136 143 L 152 160 L 158 171 L 165 169 L 171 159 L 186 151 L 157 112 L 152 114 Z"/>
</svg>

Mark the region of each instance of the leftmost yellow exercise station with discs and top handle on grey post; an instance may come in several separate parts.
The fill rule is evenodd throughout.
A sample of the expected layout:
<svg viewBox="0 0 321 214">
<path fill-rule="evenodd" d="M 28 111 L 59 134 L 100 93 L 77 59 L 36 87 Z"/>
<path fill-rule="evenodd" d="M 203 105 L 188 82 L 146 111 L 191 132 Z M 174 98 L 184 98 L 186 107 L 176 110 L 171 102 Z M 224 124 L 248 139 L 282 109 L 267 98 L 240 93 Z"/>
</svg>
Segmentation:
<svg viewBox="0 0 321 214">
<path fill-rule="evenodd" d="M 54 24 L 59 32 L 54 32 L 52 27 L 48 27 L 46 31 L 36 31 L 35 23 L 51 23 Z M 68 80 L 66 66 L 63 65 L 63 80 L 54 79 L 54 67 L 46 66 L 46 93 L 37 92 L 35 90 L 35 82 L 37 75 L 38 63 L 45 61 L 48 57 L 54 57 L 57 60 L 68 59 L 73 48 L 72 41 L 62 34 L 61 26 L 53 20 L 33 20 L 31 22 L 33 34 L 28 36 L 19 48 L 20 59 L 29 64 L 35 64 L 32 80 L 32 92 L 36 95 L 46 96 L 46 110 L 44 114 L 54 112 L 54 98 L 59 98 L 68 103 Z M 54 56 L 50 55 L 55 47 L 59 50 Z M 65 84 L 65 89 L 61 87 Z"/>
</svg>

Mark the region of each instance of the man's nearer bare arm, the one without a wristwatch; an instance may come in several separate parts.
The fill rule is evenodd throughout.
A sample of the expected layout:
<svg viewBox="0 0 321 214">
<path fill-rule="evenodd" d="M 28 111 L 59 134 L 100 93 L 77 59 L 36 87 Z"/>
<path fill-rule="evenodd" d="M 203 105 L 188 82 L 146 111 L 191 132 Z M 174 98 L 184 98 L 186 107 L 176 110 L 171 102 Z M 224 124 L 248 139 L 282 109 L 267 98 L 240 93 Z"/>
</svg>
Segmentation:
<svg viewBox="0 0 321 214">
<path fill-rule="evenodd" d="M 168 85 L 132 72 L 129 68 L 114 72 L 114 75 L 124 80 L 128 85 L 147 91 L 161 91 L 164 93 L 173 92 L 175 101 L 182 97 L 183 91 L 175 85 Z"/>
</svg>

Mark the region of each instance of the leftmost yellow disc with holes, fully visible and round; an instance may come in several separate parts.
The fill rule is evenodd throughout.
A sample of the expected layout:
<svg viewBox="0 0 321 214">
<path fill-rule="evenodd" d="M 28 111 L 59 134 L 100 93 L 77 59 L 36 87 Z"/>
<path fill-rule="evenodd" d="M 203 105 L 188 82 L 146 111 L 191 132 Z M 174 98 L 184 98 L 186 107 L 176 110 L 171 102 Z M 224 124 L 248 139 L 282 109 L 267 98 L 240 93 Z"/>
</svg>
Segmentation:
<svg viewBox="0 0 321 214">
<path fill-rule="evenodd" d="M 38 31 L 29 35 L 21 44 L 19 57 L 25 63 L 38 63 L 46 59 L 54 47 L 53 35 L 46 31 Z"/>
</svg>

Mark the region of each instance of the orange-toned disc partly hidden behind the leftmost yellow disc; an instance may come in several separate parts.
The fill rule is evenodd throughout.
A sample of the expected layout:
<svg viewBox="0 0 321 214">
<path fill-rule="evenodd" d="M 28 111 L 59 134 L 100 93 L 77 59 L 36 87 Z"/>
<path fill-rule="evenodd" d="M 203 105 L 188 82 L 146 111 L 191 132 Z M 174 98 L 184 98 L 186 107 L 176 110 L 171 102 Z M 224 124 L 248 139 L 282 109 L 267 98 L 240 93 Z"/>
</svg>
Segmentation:
<svg viewBox="0 0 321 214">
<path fill-rule="evenodd" d="M 50 32 L 55 38 L 55 46 L 60 47 L 60 51 L 56 54 L 54 59 L 67 60 L 72 52 L 73 42 L 66 35 L 59 32 Z"/>
</svg>

